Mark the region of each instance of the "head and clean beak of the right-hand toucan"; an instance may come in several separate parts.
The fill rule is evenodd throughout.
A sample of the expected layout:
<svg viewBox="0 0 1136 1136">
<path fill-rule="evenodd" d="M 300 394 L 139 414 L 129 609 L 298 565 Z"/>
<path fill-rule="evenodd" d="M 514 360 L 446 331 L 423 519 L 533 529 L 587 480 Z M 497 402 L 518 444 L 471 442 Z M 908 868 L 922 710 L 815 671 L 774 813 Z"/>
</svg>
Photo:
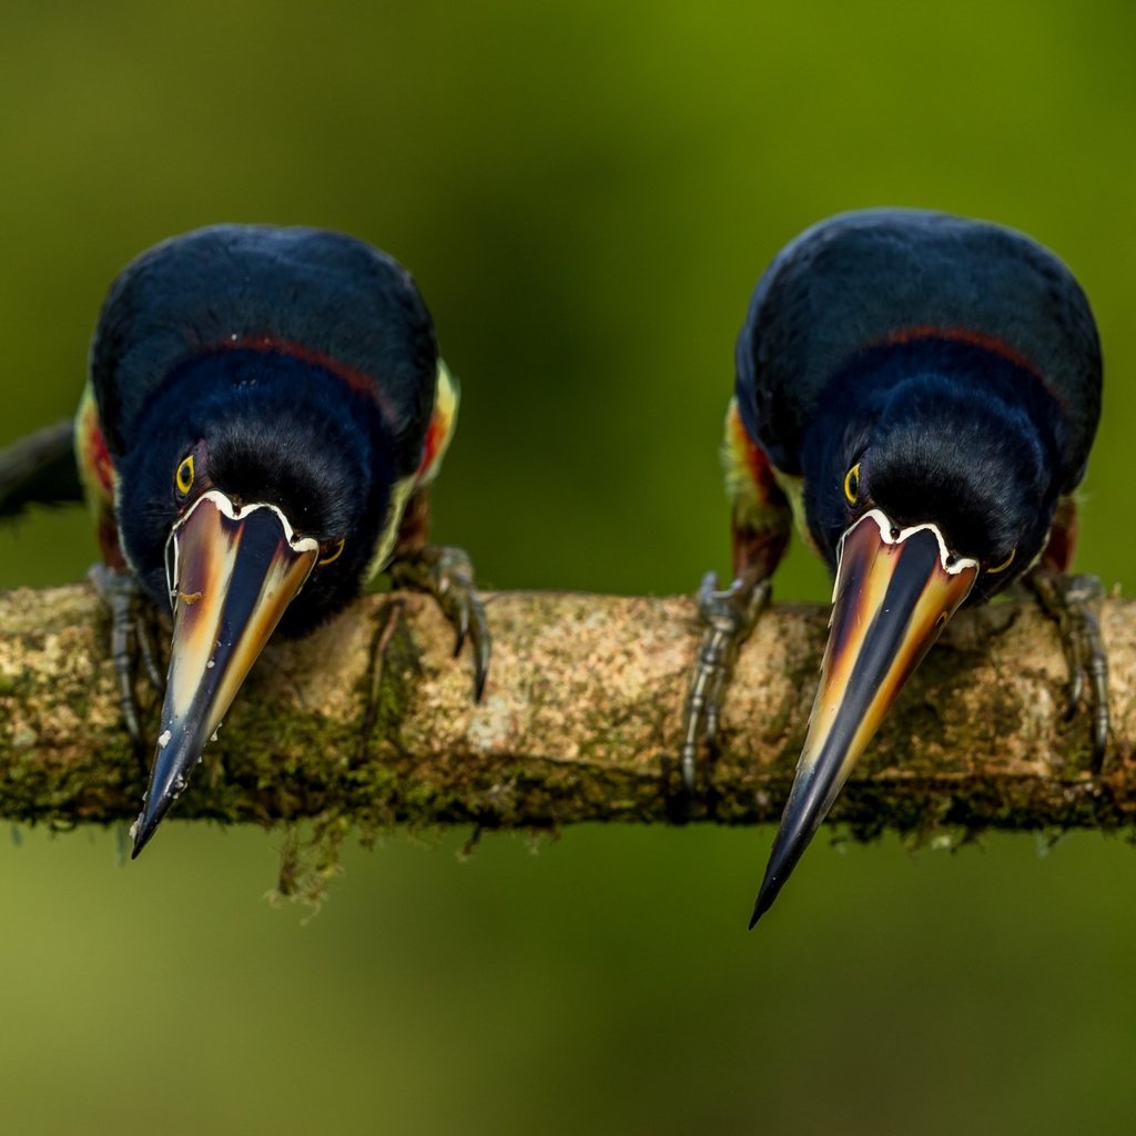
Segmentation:
<svg viewBox="0 0 1136 1136">
<path fill-rule="evenodd" d="M 952 367 L 867 353 L 840 376 L 851 394 L 810 426 L 805 511 L 835 571 L 833 612 L 754 921 L 951 616 L 1020 576 L 1045 545 L 1062 482 L 1052 396 L 1014 365 L 963 354 L 960 368 L 954 349 Z"/>
</svg>

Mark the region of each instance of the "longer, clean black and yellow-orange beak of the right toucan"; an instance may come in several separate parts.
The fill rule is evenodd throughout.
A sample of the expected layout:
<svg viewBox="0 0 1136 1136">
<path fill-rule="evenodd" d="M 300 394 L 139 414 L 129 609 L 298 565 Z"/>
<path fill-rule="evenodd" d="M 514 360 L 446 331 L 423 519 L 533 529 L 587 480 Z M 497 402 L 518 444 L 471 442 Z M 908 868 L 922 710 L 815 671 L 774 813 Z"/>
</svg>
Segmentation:
<svg viewBox="0 0 1136 1136">
<path fill-rule="evenodd" d="M 845 532 L 837 557 L 820 688 L 751 927 L 769 910 L 903 683 L 978 577 L 978 562 L 952 556 L 935 525 L 900 531 L 878 509 Z"/>
</svg>

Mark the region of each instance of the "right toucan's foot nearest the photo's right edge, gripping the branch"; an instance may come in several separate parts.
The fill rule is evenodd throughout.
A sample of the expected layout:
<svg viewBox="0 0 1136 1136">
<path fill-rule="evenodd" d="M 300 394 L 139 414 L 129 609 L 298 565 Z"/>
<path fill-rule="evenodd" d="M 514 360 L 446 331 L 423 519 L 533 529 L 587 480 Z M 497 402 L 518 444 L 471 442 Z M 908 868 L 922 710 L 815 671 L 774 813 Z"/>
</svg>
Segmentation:
<svg viewBox="0 0 1136 1136">
<path fill-rule="evenodd" d="M 1064 718 L 1074 718 L 1083 701 L 1087 704 L 1092 715 L 1093 771 L 1100 772 L 1109 741 L 1109 657 L 1095 608 L 1104 590 L 1095 576 L 1067 576 L 1044 568 L 1031 573 L 1026 583 L 1042 610 L 1060 628 L 1069 667 Z"/>
</svg>

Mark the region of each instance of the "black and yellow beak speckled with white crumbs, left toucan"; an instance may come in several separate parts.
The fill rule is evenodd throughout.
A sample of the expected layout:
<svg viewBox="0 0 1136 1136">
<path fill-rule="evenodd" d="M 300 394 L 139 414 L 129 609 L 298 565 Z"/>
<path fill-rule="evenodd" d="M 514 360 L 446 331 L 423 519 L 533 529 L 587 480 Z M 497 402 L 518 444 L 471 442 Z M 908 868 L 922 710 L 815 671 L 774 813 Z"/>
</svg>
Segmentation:
<svg viewBox="0 0 1136 1136">
<path fill-rule="evenodd" d="M 318 556 L 318 542 L 296 537 L 275 506 L 237 509 L 217 490 L 174 526 L 166 543 L 174 641 L 150 786 L 131 829 L 132 858 L 185 787 Z"/>
</svg>

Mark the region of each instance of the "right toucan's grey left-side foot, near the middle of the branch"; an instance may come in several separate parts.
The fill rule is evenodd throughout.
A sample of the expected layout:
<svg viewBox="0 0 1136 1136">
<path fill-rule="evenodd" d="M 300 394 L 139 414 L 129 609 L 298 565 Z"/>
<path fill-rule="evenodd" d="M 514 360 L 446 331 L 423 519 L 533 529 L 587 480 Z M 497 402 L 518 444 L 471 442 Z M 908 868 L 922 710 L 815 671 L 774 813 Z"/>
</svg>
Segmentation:
<svg viewBox="0 0 1136 1136">
<path fill-rule="evenodd" d="M 699 659 L 694 665 L 683 713 L 679 770 L 688 792 L 694 790 L 699 744 L 713 750 L 718 738 L 721 703 L 734 669 L 738 648 L 745 642 L 769 602 L 768 579 L 735 579 L 724 591 L 718 577 L 707 573 L 699 588 L 699 620 L 704 625 Z"/>
</svg>

